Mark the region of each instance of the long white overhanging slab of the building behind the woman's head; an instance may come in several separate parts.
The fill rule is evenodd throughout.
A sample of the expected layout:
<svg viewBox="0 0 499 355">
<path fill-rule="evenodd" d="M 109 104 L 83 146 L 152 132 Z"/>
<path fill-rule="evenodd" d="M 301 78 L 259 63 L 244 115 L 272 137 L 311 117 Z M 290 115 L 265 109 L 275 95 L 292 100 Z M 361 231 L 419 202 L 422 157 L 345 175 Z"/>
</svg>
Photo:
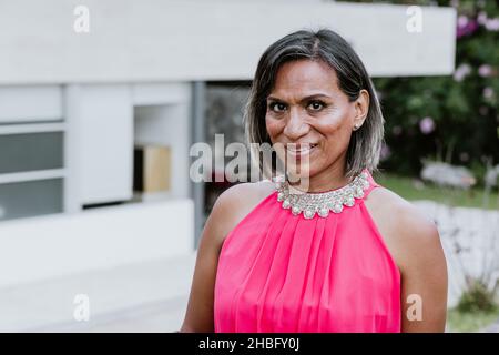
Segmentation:
<svg viewBox="0 0 499 355">
<path fill-rule="evenodd" d="M 327 26 L 373 75 L 449 74 L 456 13 L 342 2 L 85 0 L 90 32 L 73 30 L 80 0 L 1 1 L 0 84 L 249 79 L 264 49 L 301 28 Z"/>
</svg>

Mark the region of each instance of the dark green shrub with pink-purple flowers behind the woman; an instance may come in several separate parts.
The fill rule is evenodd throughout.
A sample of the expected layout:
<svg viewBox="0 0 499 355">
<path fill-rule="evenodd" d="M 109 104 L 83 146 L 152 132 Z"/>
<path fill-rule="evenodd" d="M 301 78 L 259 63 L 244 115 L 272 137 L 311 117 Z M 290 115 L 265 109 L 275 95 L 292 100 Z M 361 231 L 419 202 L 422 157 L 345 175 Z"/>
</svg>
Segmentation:
<svg viewBox="0 0 499 355">
<path fill-rule="evenodd" d="M 383 98 L 386 145 L 391 152 L 383 168 L 417 175 L 422 160 L 432 159 L 471 169 L 482 184 L 485 162 L 499 163 L 498 2 L 375 2 L 447 6 L 458 11 L 452 75 L 374 80 Z"/>
</svg>

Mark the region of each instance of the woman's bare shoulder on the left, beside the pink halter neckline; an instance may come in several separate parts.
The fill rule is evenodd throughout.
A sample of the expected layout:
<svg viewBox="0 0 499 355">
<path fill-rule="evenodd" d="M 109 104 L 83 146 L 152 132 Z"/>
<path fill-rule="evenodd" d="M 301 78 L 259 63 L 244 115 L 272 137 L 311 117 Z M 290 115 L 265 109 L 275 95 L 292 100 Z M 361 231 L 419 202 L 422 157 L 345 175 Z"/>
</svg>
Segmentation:
<svg viewBox="0 0 499 355">
<path fill-rule="evenodd" d="M 222 244 L 226 235 L 274 191 L 274 184 L 269 181 L 240 183 L 225 190 L 208 217 L 217 226 L 217 242 Z"/>
</svg>

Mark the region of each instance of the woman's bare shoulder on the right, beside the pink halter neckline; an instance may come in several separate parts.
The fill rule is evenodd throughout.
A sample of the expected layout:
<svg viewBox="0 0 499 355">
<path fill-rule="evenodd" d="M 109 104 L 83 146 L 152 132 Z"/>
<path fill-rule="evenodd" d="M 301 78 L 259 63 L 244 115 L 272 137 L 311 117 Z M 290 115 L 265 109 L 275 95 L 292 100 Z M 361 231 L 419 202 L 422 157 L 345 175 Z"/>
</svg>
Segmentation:
<svg viewBox="0 0 499 355">
<path fill-rule="evenodd" d="M 419 207 L 383 186 L 373 190 L 366 205 L 400 270 L 441 256 L 437 225 Z"/>
</svg>

